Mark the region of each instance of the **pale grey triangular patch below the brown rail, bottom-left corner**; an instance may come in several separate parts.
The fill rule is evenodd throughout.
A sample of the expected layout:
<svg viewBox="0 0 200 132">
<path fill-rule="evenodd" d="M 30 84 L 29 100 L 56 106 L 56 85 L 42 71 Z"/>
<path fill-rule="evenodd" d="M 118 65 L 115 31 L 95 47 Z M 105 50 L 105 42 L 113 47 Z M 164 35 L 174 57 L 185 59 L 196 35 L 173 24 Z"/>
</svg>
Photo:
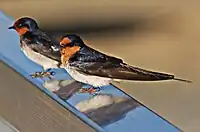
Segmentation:
<svg viewBox="0 0 200 132">
<path fill-rule="evenodd" d="M 19 132 L 13 125 L 0 117 L 0 132 Z"/>
</svg>

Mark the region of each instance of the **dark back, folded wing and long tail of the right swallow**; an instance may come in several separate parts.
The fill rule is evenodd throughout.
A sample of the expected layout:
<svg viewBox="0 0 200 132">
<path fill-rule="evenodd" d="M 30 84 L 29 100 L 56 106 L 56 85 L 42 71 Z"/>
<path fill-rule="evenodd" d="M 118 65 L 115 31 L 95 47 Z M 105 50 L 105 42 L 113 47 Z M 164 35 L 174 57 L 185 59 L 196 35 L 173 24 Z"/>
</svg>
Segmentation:
<svg viewBox="0 0 200 132">
<path fill-rule="evenodd" d="M 93 76 L 120 80 L 158 81 L 174 79 L 190 82 L 184 79 L 177 79 L 174 75 L 127 65 L 119 58 L 107 56 L 89 47 L 75 54 L 74 58 L 72 57 L 69 62 L 70 66 L 77 71 Z"/>
</svg>

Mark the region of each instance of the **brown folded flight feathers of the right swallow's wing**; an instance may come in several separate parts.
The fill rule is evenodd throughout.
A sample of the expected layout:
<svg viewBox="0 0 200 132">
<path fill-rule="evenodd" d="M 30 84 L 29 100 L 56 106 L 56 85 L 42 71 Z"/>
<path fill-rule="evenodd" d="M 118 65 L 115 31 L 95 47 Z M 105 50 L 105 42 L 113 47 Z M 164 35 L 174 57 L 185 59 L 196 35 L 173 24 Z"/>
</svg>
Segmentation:
<svg viewBox="0 0 200 132">
<path fill-rule="evenodd" d="M 124 63 L 113 64 L 112 62 L 74 62 L 72 66 L 76 70 L 93 76 L 107 77 L 122 80 L 156 81 L 173 79 L 174 75 L 152 72 Z"/>
</svg>

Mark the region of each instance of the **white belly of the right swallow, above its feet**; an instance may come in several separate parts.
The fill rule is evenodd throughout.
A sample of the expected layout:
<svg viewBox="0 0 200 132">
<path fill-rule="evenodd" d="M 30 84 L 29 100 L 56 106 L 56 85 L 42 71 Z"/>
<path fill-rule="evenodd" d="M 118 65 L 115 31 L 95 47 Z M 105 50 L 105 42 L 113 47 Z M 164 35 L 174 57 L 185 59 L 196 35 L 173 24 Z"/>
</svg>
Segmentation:
<svg viewBox="0 0 200 132">
<path fill-rule="evenodd" d="M 66 65 L 65 70 L 74 80 L 92 85 L 94 87 L 106 86 L 112 82 L 112 79 L 110 78 L 82 74 L 75 70 L 73 67 L 70 67 L 69 64 Z"/>
</svg>

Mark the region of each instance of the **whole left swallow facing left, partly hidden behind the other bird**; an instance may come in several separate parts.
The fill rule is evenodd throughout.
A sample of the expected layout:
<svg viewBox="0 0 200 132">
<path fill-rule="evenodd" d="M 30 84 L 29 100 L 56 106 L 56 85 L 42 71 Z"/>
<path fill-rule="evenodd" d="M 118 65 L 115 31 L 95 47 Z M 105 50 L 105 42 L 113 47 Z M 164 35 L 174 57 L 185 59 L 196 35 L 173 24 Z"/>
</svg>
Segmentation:
<svg viewBox="0 0 200 132">
<path fill-rule="evenodd" d="M 32 74 L 32 77 L 50 76 L 50 69 L 61 66 L 59 41 L 42 31 L 33 18 L 19 18 L 8 29 L 14 29 L 19 34 L 21 51 L 45 70 Z"/>
</svg>

